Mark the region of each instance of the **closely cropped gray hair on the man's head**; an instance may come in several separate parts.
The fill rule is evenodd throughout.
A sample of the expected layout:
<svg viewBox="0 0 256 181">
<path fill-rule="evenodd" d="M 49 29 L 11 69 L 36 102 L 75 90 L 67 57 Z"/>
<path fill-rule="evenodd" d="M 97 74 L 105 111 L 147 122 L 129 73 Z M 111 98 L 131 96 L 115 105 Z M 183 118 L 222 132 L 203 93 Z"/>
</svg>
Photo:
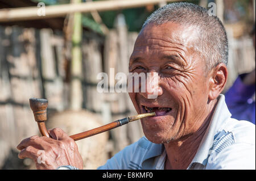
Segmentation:
<svg viewBox="0 0 256 181">
<path fill-rule="evenodd" d="M 148 16 L 142 28 L 149 23 L 160 25 L 166 22 L 199 27 L 194 49 L 205 60 L 207 71 L 220 63 L 228 64 L 228 38 L 226 31 L 217 16 L 209 15 L 207 9 L 193 3 L 170 3 Z"/>
</svg>

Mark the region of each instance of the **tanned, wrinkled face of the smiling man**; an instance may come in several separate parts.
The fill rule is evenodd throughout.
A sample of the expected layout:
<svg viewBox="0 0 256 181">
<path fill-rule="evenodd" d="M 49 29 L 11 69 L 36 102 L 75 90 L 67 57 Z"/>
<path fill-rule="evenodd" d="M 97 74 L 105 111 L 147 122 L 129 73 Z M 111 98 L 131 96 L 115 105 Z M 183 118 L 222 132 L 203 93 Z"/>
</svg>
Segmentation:
<svg viewBox="0 0 256 181">
<path fill-rule="evenodd" d="M 192 134 L 207 117 L 208 82 L 203 58 L 193 48 L 195 28 L 177 23 L 148 24 L 139 34 L 130 57 L 131 73 L 158 73 L 158 96 L 130 92 L 138 113 L 156 112 L 141 120 L 148 140 L 166 143 Z M 152 82 L 151 80 L 147 80 Z"/>
</svg>

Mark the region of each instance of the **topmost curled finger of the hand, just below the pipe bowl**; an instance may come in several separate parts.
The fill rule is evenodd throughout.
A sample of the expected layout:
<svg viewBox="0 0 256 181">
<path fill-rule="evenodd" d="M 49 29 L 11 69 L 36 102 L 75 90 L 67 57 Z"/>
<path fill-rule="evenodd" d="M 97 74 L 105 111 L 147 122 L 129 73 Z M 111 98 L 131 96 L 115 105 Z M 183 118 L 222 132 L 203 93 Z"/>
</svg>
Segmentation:
<svg viewBox="0 0 256 181">
<path fill-rule="evenodd" d="M 23 150 L 28 146 L 33 146 L 36 149 L 44 150 L 48 148 L 49 143 L 44 141 L 39 136 L 31 136 L 29 138 L 22 140 L 20 144 L 17 146 L 17 149 Z"/>
</svg>

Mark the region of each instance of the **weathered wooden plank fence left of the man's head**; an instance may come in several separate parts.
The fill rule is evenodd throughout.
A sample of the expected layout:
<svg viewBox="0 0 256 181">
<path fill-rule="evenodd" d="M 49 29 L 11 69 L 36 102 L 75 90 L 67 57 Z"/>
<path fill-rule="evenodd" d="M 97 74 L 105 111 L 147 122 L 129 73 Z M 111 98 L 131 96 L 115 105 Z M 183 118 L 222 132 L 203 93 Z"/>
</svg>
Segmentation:
<svg viewBox="0 0 256 181">
<path fill-rule="evenodd" d="M 125 26 L 118 24 L 105 38 L 93 32 L 84 33 L 81 45 L 83 108 L 101 117 L 101 124 L 135 114 L 125 93 L 101 94 L 96 89 L 98 73 L 108 73 L 109 68 L 128 71 L 135 37 L 137 33 L 128 33 Z M 69 108 L 67 66 L 70 56 L 65 52 L 61 32 L 0 27 L 0 167 L 3 169 L 20 169 L 6 166 L 5 160 L 11 150 L 17 151 L 16 145 L 23 138 L 38 134 L 29 98 L 48 99 L 49 120 L 53 113 Z M 117 128 L 110 133 L 106 150 L 112 156 L 142 135 L 139 123 Z"/>
</svg>

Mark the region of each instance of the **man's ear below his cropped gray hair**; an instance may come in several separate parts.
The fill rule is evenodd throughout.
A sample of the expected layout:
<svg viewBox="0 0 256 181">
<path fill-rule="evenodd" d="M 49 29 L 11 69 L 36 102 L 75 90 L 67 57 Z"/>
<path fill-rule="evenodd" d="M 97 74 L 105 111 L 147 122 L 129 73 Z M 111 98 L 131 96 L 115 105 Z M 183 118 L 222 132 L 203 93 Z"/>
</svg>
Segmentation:
<svg viewBox="0 0 256 181">
<path fill-rule="evenodd" d="M 226 85 L 228 69 L 225 64 L 218 64 L 215 68 L 210 70 L 209 76 L 209 100 L 214 100 L 221 94 Z"/>
</svg>

